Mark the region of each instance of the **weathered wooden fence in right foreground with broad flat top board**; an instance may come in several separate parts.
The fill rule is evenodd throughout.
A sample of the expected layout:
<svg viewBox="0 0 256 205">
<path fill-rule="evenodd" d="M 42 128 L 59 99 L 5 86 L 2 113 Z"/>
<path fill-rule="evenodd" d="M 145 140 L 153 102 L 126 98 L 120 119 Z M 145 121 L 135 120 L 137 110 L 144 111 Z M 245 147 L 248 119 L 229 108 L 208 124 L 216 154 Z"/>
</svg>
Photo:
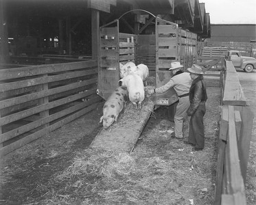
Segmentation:
<svg viewBox="0 0 256 205">
<path fill-rule="evenodd" d="M 253 113 L 237 72 L 231 61 L 225 61 L 222 77 L 222 112 L 216 172 L 214 205 L 245 205 L 244 183 L 253 128 Z"/>
</svg>

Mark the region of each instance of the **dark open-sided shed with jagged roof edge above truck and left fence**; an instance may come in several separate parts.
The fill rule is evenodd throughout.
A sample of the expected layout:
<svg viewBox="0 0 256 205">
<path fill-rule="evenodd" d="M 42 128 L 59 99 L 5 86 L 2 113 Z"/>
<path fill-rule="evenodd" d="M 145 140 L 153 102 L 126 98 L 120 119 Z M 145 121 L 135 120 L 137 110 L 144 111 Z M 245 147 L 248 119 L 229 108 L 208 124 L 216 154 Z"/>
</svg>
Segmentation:
<svg viewBox="0 0 256 205">
<path fill-rule="evenodd" d="M 92 45 L 95 27 L 130 10 L 146 10 L 177 23 L 196 33 L 199 41 L 210 37 L 209 14 L 205 13 L 205 3 L 198 0 L 3 0 L 0 6 L 1 59 L 8 61 L 9 55 L 91 56 L 95 48 Z M 120 29 L 126 33 L 138 32 L 148 17 L 143 12 L 126 15 L 121 19 Z"/>
</svg>

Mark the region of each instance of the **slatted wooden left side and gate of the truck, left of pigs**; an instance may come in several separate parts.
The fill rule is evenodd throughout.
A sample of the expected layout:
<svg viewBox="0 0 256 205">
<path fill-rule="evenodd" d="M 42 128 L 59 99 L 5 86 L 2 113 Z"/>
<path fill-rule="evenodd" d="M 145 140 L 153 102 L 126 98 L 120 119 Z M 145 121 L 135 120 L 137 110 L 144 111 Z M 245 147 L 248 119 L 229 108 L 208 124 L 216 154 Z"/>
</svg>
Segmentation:
<svg viewBox="0 0 256 205">
<path fill-rule="evenodd" d="M 135 62 L 135 40 L 135 35 L 119 33 L 119 20 L 100 27 L 97 93 L 105 100 L 119 85 L 119 63 Z"/>
</svg>

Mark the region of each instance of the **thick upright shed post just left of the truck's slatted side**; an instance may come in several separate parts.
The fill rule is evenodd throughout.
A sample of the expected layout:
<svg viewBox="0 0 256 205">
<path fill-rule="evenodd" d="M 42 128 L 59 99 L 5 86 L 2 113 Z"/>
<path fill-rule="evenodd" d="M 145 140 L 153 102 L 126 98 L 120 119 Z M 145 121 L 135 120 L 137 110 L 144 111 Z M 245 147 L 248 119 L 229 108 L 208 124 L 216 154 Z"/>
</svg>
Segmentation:
<svg viewBox="0 0 256 205">
<path fill-rule="evenodd" d="M 91 51 L 92 58 L 97 59 L 100 54 L 100 11 L 91 10 Z"/>
</svg>

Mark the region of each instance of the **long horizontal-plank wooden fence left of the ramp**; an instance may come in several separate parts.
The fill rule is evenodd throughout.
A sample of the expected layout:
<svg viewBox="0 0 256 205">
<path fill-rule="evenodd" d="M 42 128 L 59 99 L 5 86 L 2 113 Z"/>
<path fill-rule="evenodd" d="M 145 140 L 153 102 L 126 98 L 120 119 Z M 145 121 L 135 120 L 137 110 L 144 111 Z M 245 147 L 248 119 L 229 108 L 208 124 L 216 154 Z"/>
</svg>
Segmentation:
<svg viewBox="0 0 256 205">
<path fill-rule="evenodd" d="M 97 61 L 1 68 L 0 155 L 95 109 Z"/>
</svg>

